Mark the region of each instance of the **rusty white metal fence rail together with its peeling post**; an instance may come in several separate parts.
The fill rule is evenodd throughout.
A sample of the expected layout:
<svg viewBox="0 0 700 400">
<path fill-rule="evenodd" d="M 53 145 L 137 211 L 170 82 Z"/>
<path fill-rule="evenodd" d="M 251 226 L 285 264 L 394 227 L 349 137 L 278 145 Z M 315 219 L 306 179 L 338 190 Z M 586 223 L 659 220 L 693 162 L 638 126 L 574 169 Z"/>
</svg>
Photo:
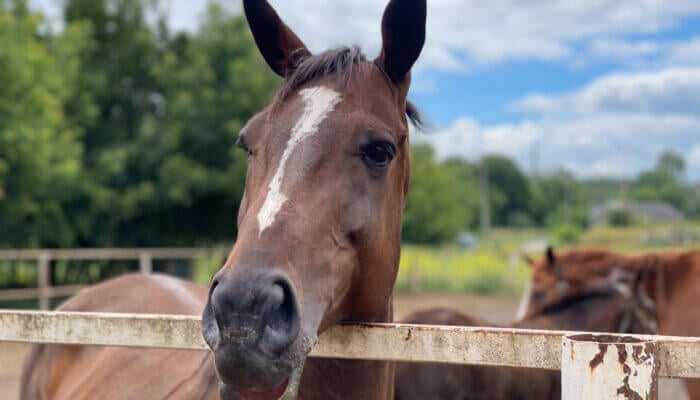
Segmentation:
<svg viewBox="0 0 700 400">
<path fill-rule="evenodd" d="M 199 317 L 172 315 L 0 311 L 0 341 L 206 349 Z M 572 388 L 564 400 L 614 399 L 620 388 L 653 400 L 659 377 L 700 378 L 693 337 L 344 325 L 322 334 L 311 356 L 561 370 Z"/>
</svg>

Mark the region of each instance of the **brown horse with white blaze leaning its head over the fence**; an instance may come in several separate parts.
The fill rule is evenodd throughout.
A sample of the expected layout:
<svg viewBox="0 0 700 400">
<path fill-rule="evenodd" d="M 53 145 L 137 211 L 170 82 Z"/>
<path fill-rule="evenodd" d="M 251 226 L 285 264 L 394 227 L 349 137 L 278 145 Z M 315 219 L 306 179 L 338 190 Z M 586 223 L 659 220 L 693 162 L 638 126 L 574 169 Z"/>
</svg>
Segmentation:
<svg viewBox="0 0 700 400">
<path fill-rule="evenodd" d="M 207 398 L 215 378 L 224 400 L 393 397 L 393 363 L 306 358 L 338 322 L 392 320 L 409 184 L 406 115 L 415 119 L 406 96 L 426 2 L 390 1 L 374 60 L 357 48 L 312 55 L 266 1 L 243 5 L 260 52 L 285 81 L 240 133 L 248 172 L 238 238 L 209 292 L 129 277 L 64 307 L 204 310 L 212 356 L 36 346 L 24 399 Z"/>
</svg>

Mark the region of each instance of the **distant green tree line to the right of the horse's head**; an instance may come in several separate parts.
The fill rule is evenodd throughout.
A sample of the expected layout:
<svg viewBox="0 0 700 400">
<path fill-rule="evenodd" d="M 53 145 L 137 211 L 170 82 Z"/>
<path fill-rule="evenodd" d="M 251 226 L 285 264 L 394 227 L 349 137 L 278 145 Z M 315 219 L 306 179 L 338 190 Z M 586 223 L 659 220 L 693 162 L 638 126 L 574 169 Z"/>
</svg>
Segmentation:
<svg viewBox="0 0 700 400">
<path fill-rule="evenodd" d="M 414 146 L 411 156 L 403 229 L 410 242 L 439 243 L 478 230 L 480 190 L 488 191 L 492 224 L 502 227 L 586 229 L 590 208 L 609 199 L 663 202 L 688 219 L 700 216 L 700 186 L 687 182 L 685 161 L 672 151 L 661 151 L 651 169 L 632 179 L 581 179 L 564 169 L 528 176 L 502 155 L 439 161 L 427 145 Z M 480 182 L 482 169 L 487 185 Z M 631 215 L 611 215 L 613 224 L 634 222 Z"/>
</svg>

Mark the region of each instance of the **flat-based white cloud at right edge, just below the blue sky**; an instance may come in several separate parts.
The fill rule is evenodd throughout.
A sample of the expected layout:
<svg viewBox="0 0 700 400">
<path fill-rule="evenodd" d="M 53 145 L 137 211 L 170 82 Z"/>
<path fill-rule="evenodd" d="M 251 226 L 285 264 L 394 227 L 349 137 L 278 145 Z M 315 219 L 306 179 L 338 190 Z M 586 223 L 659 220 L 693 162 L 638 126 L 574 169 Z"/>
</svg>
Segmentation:
<svg viewBox="0 0 700 400">
<path fill-rule="evenodd" d="M 700 115 L 700 67 L 608 75 L 575 93 L 532 94 L 513 107 L 539 113 Z"/>
</svg>

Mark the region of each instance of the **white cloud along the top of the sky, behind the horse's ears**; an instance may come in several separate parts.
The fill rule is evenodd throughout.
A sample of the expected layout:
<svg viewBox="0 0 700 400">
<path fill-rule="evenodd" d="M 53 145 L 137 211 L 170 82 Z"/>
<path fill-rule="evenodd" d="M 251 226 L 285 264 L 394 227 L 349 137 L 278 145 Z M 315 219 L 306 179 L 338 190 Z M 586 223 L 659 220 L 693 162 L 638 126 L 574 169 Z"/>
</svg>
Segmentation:
<svg viewBox="0 0 700 400">
<path fill-rule="evenodd" d="M 240 9 L 240 0 L 218 1 Z M 176 29 L 194 30 L 207 0 L 166 3 Z M 354 43 L 368 55 L 380 49 L 379 24 L 387 0 L 336 0 L 332 6 L 327 0 L 271 3 L 312 50 Z M 50 14 L 59 10 L 56 0 L 31 4 Z M 697 0 L 431 0 L 428 7 L 426 52 L 419 68 L 441 70 L 511 59 L 571 61 L 579 57 L 575 45 L 581 41 L 592 41 L 592 56 L 640 56 L 653 51 L 653 44 L 626 44 L 620 38 L 669 29 L 682 18 L 700 15 Z"/>
</svg>

